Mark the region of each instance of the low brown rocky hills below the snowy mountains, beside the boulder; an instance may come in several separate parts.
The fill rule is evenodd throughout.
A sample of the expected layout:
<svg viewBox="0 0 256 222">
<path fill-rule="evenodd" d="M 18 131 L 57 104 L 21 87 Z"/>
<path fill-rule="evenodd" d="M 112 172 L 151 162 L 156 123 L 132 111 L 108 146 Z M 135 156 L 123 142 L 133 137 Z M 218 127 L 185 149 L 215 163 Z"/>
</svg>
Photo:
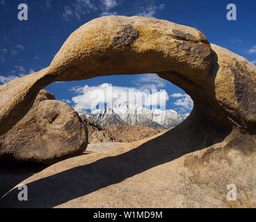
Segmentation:
<svg viewBox="0 0 256 222">
<path fill-rule="evenodd" d="M 147 137 L 152 137 L 165 130 L 154 129 L 147 126 L 100 126 L 92 119 L 80 115 L 88 128 L 88 140 L 90 144 L 108 143 L 108 142 L 136 142 Z"/>
</svg>

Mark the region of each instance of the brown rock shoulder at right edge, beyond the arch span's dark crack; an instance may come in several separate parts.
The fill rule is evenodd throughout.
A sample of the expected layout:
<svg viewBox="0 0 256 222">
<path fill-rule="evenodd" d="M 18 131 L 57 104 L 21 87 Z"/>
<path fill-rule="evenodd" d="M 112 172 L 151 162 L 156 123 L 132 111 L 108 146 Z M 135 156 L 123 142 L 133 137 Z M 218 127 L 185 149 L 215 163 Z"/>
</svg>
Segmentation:
<svg viewBox="0 0 256 222">
<path fill-rule="evenodd" d="M 256 67 L 245 58 L 211 44 L 214 53 L 209 74 L 216 100 L 235 126 L 256 133 Z M 216 71 L 218 70 L 218 71 Z"/>
</svg>

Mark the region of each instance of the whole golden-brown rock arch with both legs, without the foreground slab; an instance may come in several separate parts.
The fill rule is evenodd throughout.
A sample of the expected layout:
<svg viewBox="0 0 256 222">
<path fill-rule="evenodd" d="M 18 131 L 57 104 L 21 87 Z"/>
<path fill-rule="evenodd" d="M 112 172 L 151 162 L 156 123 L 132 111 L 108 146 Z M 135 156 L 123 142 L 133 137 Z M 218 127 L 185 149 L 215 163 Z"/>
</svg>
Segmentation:
<svg viewBox="0 0 256 222">
<path fill-rule="evenodd" d="M 252 63 L 209 44 L 195 28 L 146 17 L 108 16 L 74 31 L 49 67 L 1 85 L 0 134 L 29 111 L 40 89 L 50 83 L 142 73 L 157 73 L 191 96 L 193 112 L 182 126 L 198 135 L 194 145 L 223 139 L 233 127 L 255 133 Z"/>
</svg>

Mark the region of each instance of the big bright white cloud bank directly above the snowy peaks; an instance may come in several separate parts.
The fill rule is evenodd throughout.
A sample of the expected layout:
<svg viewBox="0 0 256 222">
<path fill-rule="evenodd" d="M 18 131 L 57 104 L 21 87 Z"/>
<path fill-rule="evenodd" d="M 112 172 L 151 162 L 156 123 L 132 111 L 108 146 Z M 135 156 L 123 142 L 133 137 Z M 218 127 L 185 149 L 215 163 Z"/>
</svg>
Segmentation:
<svg viewBox="0 0 256 222">
<path fill-rule="evenodd" d="M 74 108 L 83 108 L 84 110 L 95 110 L 96 105 L 107 104 L 107 106 L 118 105 L 127 101 L 149 106 L 163 105 L 168 101 L 168 94 L 165 90 L 157 92 L 157 90 L 140 90 L 133 87 L 118 87 L 104 83 L 99 86 L 89 87 L 85 85 L 73 88 L 80 92 L 78 96 L 74 96 L 72 101 L 75 103 Z"/>
</svg>

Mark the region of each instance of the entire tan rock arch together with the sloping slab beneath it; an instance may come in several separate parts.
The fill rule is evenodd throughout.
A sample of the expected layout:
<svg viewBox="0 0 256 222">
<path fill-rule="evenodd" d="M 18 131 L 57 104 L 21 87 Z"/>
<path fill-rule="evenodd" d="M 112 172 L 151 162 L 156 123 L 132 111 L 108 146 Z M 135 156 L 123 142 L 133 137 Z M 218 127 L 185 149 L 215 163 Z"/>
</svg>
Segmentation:
<svg viewBox="0 0 256 222">
<path fill-rule="evenodd" d="M 1 133 L 48 82 L 141 73 L 184 89 L 194 101 L 191 115 L 154 139 L 54 164 L 24 180 L 29 201 L 17 201 L 13 189 L 2 205 L 255 207 L 256 67 L 195 28 L 145 17 L 88 22 L 49 68 L 0 87 Z M 237 186 L 237 201 L 226 198 L 229 184 Z"/>
</svg>

